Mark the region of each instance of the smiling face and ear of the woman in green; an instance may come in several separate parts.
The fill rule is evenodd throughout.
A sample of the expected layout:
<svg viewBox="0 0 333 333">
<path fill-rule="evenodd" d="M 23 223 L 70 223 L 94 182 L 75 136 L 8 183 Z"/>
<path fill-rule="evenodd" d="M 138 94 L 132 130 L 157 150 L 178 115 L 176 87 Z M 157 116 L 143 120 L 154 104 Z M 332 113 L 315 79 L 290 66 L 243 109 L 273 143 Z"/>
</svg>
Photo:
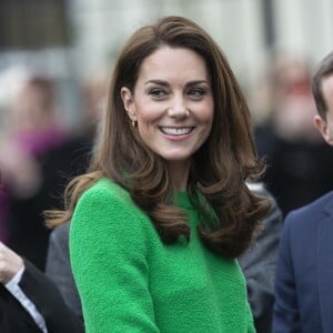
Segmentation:
<svg viewBox="0 0 333 333">
<path fill-rule="evenodd" d="M 121 95 L 142 141 L 169 162 L 188 162 L 211 132 L 210 74 L 190 49 L 157 50 L 142 62 L 133 93 L 122 88 Z"/>
</svg>

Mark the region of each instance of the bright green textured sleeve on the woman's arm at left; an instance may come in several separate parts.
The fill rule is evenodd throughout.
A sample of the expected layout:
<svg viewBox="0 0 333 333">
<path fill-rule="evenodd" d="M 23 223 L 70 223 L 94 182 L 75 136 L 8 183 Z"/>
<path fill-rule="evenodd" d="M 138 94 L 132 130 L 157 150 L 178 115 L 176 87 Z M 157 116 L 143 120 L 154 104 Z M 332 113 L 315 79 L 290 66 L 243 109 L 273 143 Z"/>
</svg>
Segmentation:
<svg viewBox="0 0 333 333">
<path fill-rule="evenodd" d="M 70 256 L 87 333 L 159 332 L 143 219 L 130 200 L 104 189 L 92 188 L 78 202 Z"/>
</svg>

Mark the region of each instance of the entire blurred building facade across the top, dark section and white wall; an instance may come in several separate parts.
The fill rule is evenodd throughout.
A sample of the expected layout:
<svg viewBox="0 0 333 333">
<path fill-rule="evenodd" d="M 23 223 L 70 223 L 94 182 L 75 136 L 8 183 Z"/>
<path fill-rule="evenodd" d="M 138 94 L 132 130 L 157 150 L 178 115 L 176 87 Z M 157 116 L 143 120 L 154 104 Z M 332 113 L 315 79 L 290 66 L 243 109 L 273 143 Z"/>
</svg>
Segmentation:
<svg viewBox="0 0 333 333">
<path fill-rule="evenodd" d="M 47 72 L 59 81 L 62 110 L 74 120 L 78 80 L 101 67 L 110 70 L 128 36 L 164 14 L 202 24 L 244 87 L 256 80 L 272 52 L 316 62 L 333 49 L 332 0 L 1 0 L 0 84 L 9 67 Z"/>
</svg>

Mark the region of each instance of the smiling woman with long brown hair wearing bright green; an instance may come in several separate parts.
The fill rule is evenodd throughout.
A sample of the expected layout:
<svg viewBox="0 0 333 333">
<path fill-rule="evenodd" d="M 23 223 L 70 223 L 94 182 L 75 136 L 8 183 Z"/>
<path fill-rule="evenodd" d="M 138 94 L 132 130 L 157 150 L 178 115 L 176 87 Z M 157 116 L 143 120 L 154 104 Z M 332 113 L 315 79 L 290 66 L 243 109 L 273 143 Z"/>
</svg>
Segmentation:
<svg viewBox="0 0 333 333">
<path fill-rule="evenodd" d="M 235 258 L 269 202 L 248 105 L 216 43 L 167 17 L 115 63 L 90 173 L 71 182 L 70 254 L 88 333 L 254 332 Z"/>
</svg>

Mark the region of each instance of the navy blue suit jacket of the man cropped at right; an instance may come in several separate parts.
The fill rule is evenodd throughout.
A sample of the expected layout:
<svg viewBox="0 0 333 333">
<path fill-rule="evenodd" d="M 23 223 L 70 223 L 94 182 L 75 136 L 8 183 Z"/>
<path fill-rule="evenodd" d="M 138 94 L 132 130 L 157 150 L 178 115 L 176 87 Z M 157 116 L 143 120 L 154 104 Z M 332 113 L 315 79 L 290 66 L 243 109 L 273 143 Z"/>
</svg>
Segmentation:
<svg viewBox="0 0 333 333">
<path fill-rule="evenodd" d="M 273 332 L 333 332 L 333 192 L 285 219 Z"/>
</svg>

